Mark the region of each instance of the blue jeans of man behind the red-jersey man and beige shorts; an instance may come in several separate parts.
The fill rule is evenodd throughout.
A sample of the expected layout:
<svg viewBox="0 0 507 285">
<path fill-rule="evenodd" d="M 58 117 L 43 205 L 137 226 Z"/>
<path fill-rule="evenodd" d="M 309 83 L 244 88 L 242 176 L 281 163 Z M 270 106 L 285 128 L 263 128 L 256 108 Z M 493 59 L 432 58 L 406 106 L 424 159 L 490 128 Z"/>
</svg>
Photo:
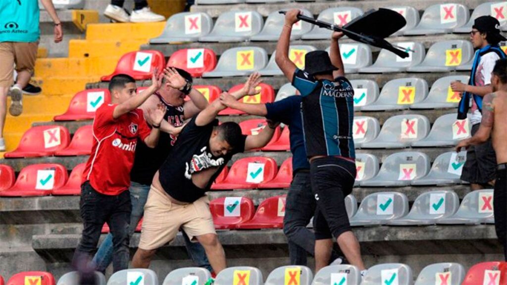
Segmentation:
<svg viewBox="0 0 507 285">
<path fill-rule="evenodd" d="M 142 218 L 142 215 L 144 213 L 144 204 L 146 204 L 146 200 L 148 200 L 149 191 L 150 186 L 148 185 L 142 185 L 135 182 L 131 182 L 130 184 L 130 201 L 132 202 L 132 213 L 130 215 L 129 225 L 130 237 L 132 234 L 134 234 L 135 228 L 137 227 L 139 220 Z M 185 239 L 187 253 L 194 264 L 199 267 L 204 267 L 209 271 L 213 271 L 211 265 L 209 264 L 208 258 L 206 257 L 204 247 L 202 247 L 202 245 L 198 242 L 191 242 L 187 234 L 184 231 L 182 231 L 182 233 Z M 113 236 L 110 233 L 107 234 L 104 241 L 102 241 L 100 244 L 95 257 L 93 257 L 93 262 L 96 265 L 96 270 L 104 273 L 105 269 L 111 264 L 112 260 Z"/>
</svg>

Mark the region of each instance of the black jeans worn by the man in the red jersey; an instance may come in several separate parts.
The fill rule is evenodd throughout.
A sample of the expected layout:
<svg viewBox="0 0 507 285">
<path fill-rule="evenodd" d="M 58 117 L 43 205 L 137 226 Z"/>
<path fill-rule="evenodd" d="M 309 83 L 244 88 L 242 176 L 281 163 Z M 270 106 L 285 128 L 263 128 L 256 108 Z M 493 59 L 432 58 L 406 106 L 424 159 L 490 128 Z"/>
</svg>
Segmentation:
<svg viewBox="0 0 507 285">
<path fill-rule="evenodd" d="M 76 269 L 79 271 L 86 271 L 83 268 L 91 270 L 88 263 L 97 250 L 100 231 L 104 223 L 107 223 L 113 235 L 114 272 L 127 269 L 129 262 L 129 223 L 130 212 L 132 211 L 129 191 L 114 196 L 104 195 L 95 191 L 90 182 L 86 181 L 81 185 L 79 209 L 84 228 L 81 241 L 74 253 L 73 264 Z"/>
</svg>

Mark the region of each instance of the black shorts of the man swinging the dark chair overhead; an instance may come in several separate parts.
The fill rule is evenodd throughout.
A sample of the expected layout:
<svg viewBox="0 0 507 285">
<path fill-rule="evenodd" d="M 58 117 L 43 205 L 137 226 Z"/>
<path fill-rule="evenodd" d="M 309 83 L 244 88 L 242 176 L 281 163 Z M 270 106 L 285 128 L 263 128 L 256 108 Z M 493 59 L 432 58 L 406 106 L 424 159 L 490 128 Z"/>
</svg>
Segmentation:
<svg viewBox="0 0 507 285">
<path fill-rule="evenodd" d="M 310 175 L 316 200 L 315 239 L 338 238 L 351 230 L 345 197 L 354 186 L 355 164 L 337 157 L 317 158 L 310 164 Z"/>
</svg>

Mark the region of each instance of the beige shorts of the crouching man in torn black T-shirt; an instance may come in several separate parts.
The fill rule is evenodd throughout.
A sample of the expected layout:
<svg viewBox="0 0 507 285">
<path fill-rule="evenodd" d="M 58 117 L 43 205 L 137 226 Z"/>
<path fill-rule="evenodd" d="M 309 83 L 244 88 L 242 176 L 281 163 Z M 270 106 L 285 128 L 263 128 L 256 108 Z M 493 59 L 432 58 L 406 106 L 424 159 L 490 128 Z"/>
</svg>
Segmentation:
<svg viewBox="0 0 507 285">
<path fill-rule="evenodd" d="M 187 233 L 190 240 L 203 234 L 216 234 L 209 211 L 208 196 L 190 204 L 178 205 L 172 203 L 165 192 L 152 185 L 144 205 L 139 248 L 155 250 L 162 247 L 176 237 L 180 228 Z"/>
</svg>

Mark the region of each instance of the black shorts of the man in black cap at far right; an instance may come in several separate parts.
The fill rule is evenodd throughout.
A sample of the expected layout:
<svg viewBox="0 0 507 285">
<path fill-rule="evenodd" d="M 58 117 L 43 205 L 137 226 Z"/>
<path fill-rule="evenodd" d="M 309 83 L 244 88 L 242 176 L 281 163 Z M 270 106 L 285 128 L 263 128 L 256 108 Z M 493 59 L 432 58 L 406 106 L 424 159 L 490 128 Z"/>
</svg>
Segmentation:
<svg viewBox="0 0 507 285">
<path fill-rule="evenodd" d="M 480 124 L 472 126 L 471 134 L 479 130 Z M 487 184 L 496 177 L 496 154 L 491 138 L 479 146 L 470 146 L 461 172 L 461 180 L 474 184 Z"/>
</svg>

